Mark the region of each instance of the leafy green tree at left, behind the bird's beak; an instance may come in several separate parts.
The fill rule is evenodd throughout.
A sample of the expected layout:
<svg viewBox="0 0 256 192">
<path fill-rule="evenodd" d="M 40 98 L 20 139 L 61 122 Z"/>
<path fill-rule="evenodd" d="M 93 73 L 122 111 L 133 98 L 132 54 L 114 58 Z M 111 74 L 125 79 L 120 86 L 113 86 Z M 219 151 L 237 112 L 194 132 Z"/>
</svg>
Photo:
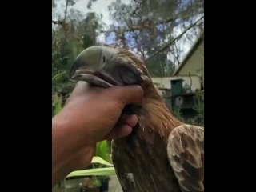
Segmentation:
<svg viewBox="0 0 256 192">
<path fill-rule="evenodd" d="M 98 14 L 89 12 L 83 15 L 72 5 L 74 1 L 66 0 L 64 14 L 53 11 L 58 19 L 52 21 L 52 92 L 62 94 L 63 102 L 74 88 L 68 76 L 70 66 L 82 50 L 97 43 L 96 37 L 104 25 Z M 53 2 L 53 10 L 54 7 Z"/>
</svg>

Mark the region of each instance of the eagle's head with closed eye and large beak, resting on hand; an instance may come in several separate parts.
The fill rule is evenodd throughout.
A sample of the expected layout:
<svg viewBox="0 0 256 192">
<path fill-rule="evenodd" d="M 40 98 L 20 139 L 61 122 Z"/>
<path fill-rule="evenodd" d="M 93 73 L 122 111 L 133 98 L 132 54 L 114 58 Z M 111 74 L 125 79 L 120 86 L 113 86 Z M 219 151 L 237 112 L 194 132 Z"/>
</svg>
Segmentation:
<svg viewBox="0 0 256 192">
<path fill-rule="evenodd" d="M 70 78 L 103 88 L 140 85 L 145 91 L 146 86 L 153 86 L 142 59 L 114 46 L 90 46 L 83 50 L 71 67 Z"/>
</svg>

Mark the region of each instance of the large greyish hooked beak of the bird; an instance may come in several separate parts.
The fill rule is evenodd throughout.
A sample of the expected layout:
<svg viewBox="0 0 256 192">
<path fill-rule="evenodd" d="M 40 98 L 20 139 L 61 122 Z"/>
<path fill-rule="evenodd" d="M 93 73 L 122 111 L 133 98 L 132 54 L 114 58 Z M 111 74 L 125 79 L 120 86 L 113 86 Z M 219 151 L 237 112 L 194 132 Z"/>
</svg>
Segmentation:
<svg viewBox="0 0 256 192">
<path fill-rule="evenodd" d="M 70 79 L 85 81 L 90 85 L 107 88 L 121 86 L 109 73 L 103 70 L 104 59 L 102 58 L 102 46 L 91 46 L 82 51 L 75 59 L 70 70 Z"/>
</svg>

